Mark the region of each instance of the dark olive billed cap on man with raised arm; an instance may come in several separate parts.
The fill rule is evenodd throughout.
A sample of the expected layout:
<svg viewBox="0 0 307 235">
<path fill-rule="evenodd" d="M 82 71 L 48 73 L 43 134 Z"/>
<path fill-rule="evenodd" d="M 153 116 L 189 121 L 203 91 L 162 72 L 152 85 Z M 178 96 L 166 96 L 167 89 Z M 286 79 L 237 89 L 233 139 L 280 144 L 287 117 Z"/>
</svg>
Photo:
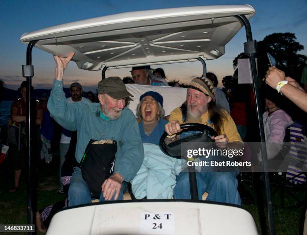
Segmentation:
<svg viewBox="0 0 307 235">
<path fill-rule="evenodd" d="M 108 77 L 98 83 L 98 94 L 108 94 L 113 99 L 131 99 L 133 97 L 119 77 Z"/>
</svg>

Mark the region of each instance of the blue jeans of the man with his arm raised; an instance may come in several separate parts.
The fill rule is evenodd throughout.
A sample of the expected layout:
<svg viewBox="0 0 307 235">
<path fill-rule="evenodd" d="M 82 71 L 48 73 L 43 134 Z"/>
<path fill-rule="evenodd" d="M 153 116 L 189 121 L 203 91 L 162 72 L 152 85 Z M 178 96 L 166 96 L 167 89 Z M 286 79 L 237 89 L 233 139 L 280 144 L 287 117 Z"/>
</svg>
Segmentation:
<svg viewBox="0 0 307 235">
<path fill-rule="evenodd" d="M 123 199 L 123 193 L 125 192 L 126 189 L 127 189 L 127 184 L 123 182 L 121 184 L 117 200 Z M 114 196 L 115 193 L 111 200 L 114 200 Z M 81 169 L 79 167 L 75 167 L 72 177 L 70 178 L 70 185 L 68 190 L 68 206 L 91 203 L 91 200 L 92 197 L 89 192 L 87 183 L 84 181 L 82 177 Z M 103 193 L 101 193 L 99 200 L 105 201 Z"/>
</svg>

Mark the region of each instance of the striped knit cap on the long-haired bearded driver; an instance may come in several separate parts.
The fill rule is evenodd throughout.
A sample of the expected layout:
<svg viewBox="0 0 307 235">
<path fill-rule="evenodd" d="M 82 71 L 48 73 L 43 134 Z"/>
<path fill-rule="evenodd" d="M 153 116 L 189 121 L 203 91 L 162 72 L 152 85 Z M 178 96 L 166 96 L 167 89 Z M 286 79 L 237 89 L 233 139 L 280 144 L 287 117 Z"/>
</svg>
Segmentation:
<svg viewBox="0 0 307 235">
<path fill-rule="evenodd" d="M 215 90 L 213 83 L 205 77 L 194 78 L 189 84 L 188 88 L 192 88 L 203 92 L 205 95 L 210 96 L 215 102 Z"/>
</svg>

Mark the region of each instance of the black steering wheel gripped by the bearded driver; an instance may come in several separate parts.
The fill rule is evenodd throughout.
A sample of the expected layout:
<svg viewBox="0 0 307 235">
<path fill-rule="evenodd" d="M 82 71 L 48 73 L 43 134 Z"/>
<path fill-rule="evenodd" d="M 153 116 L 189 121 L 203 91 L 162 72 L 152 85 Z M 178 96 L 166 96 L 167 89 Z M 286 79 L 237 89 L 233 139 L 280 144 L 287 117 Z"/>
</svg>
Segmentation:
<svg viewBox="0 0 307 235">
<path fill-rule="evenodd" d="M 164 134 L 160 138 L 160 143 L 159 143 L 162 152 L 169 155 L 170 157 L 175 157 L 178 159 L 181 159 L 182 142 L 189 142 L 189 141 L 214 142 L 214 140 L 212 140 L 211 137 L 218 135 L 217 132 L 212 127 L 199 123 L 181 124 L 180 128 L 182 129 L 182 131 L 177 133 L 177 135 L 181 135 L 183 133 L 190 131 L 197 131 L 197 133 L 183 137 L 179 140 L 167 144 L 165 138 L 168 136 L 168 133 L 164 132 Z"/>
</svg>

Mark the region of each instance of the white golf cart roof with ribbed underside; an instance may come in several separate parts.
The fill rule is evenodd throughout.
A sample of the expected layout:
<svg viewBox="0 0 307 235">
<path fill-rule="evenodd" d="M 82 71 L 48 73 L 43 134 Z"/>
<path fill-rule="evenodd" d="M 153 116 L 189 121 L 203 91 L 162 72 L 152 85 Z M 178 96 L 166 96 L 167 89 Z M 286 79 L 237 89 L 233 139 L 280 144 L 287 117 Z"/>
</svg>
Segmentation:
<svg viewBox="0 0 307 235">
<path fill-rule="evenodd" d="M 242 28 L 234 16 L 254 13 L 249 5 L 130 12 L 26 33 L 21 41 L 39 40 L 35 47 L 59 56 L 74 52 L 86 70 L 210 60 Z"/>
</svg>

